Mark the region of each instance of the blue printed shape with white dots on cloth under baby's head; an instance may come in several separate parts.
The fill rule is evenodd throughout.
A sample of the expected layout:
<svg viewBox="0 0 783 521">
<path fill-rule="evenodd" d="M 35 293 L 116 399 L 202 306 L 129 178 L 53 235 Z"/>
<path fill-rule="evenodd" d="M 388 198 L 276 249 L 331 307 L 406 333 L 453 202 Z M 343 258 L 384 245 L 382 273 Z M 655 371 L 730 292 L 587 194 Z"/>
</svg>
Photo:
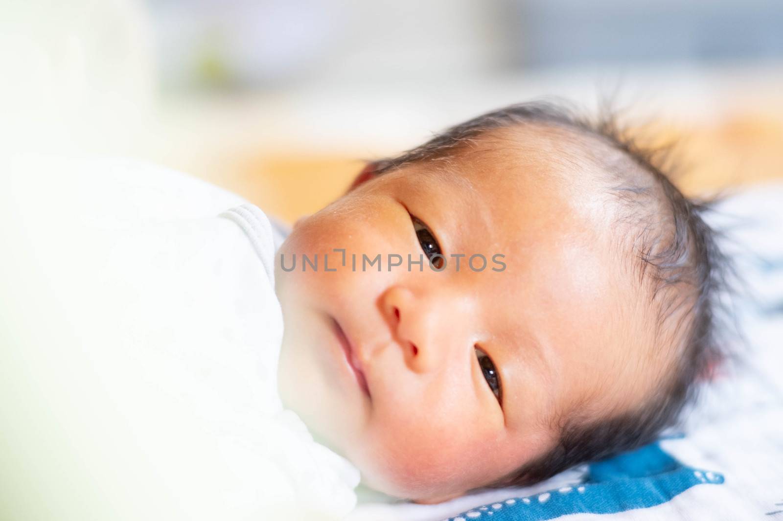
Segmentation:
<svg viewBox="0 0 783 521">
<path fill-rule="evenodd" d="M 660 505 L 702 483 L 720 484 L 723 476 L 682 465 L 656 442 L 590 465 L 583 483 L 473 508 L 449 521 L 541 521 L 578 513 L 614 514 Z"/>
</svg>

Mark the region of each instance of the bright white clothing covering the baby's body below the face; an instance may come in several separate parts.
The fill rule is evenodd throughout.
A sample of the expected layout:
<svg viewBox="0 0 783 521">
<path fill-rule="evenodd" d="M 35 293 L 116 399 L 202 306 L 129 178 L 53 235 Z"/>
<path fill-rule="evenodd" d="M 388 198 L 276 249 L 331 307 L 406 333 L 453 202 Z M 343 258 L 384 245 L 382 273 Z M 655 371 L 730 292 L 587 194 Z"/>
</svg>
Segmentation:
<svg viewBox="0 0 783 521">
<path fill-rule="evenodd" d="M 19 487 L 35 501 L 0 517 L 340 519 L 353 508 L 358 471 L 277 395 L 283 319 L 261 210 L 128 161 L 27 158 L 10 181 L 0 461 L 15 462 L 4 470 L 27 476 Z"/>
</svg>

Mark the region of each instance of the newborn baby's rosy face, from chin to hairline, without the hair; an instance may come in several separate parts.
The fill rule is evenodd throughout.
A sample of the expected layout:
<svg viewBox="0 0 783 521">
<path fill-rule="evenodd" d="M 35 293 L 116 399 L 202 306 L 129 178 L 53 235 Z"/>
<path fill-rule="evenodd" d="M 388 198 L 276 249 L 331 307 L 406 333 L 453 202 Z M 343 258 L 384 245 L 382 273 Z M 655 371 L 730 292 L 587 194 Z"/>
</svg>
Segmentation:
<svg viewBox="0 0 783 521">
<path fill-rule="evenodd" d="M 549 450 L 562 419 L 648 392 L 620 332 L 632 278 L 606 199 L 535 139 L 514 157 L 488 140 L 373 178 L 300 221 L 279 252 L 283 401 L 370 487 L 431 501 L 481 487 Z M 289 269 L 294 254 L 284 271 L 280 255 Z"/>
</svg>

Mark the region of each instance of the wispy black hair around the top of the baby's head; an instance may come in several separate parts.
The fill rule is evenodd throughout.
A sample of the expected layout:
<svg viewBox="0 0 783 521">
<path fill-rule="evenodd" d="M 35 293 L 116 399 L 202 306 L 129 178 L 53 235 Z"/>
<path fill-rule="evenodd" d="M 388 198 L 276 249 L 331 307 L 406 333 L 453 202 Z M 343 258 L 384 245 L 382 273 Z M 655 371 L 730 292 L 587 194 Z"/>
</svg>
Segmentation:
<svg viewBox="0 0 783 521">
<path fill-rule="evenodd" d="M 684 196 L 670 180 L 666 149 L 641 146 L 610 111 L 590 119 L 552 102 L 507 106 L 449 128 L 400 156 L 379 160 L 372 170 L 384 174 L 410 163 L 456 156 L 489 131 L 525 124 L 565 129 L 601 145 L 594 160 L 609 172 L 608 192 L 624 210 L 619 218 L 630 230 L 633 269 L 658 311 L 656 340 L 677 343 L 662 349 L 680 355 L 641 407 L 600 419 L 565 419 L 550 451 L 490 487 L 536 483 L 574 465 L 651 443 L 663 429 L 677 424 L 699 381 L 709 377 L 726 354 L 719 318 L 730 264 L 716 232 L 705 222 L 713 203 Z"/>
</svg>

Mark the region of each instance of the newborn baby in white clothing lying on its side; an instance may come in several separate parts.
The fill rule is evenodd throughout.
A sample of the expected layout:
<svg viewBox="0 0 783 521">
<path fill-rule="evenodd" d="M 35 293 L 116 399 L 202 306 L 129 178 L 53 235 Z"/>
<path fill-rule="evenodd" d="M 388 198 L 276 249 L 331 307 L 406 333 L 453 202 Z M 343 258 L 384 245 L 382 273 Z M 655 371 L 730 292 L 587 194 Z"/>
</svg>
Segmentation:
<svg viewBox="0 0 783 521">
<path fill-rule="evenodd" d="M 321 519 L 355 502 L 337 455 L 433 502 L 648 443 L 716 360 L 721 265 L 657 164 L 511 106 L 371 163 L 282 245 L 182 174 L 16 168 L 7 450 L 56 459 L 38 503 L 74 519 Z"/>
</svg>

